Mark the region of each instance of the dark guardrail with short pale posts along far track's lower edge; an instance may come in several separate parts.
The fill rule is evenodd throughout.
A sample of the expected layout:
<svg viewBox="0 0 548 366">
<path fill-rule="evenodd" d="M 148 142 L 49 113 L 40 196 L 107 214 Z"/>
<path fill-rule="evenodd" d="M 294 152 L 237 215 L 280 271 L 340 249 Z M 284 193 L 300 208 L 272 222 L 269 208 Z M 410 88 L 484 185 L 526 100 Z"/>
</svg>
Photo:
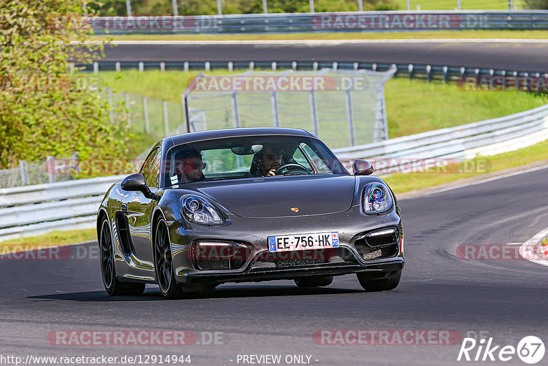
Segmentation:
<svg viewBox="0 0 548 366">
<path fill-rule="evenodd" d="M 388 71 L 391 66 L 396 66 L 395 77 L 405 76 L 411 79 L 428 80 L 429 82 L 458 82 L 462 81 L 466 76 L 514 76 L 527 77 L 541 75 L 548 77 L 545 71 L 530 70 L 501 70 L 491 69 L 486 67 L 465 67 L 465 66 L 450 66 L 436 64 L 388 64 L 376 62 L 312 62 L 312 61 L 277 61 L 277 62 L 255 62 L 255 61 L 179 61 L 179 62 L 93 62 L 92 64 L 77 64 L 82 67 L 83 71 L 121 71 L 127 69 L 145 70 L 179 70 L 179 71 L 211 71 L 211 70 L 312 70 L 321 69 L 340 69 L 340 70 L 371 70 L 371 71 Z"/>
</svg>

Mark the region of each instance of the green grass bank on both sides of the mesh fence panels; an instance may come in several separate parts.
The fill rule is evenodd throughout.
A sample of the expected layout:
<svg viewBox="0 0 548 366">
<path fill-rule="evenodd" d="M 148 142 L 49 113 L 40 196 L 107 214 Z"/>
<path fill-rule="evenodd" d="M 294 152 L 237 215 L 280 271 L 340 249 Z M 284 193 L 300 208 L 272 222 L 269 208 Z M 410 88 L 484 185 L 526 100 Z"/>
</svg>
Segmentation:
<svg viewBox="0 0 548 366">
<path fill-rule="evenodd" d="M 225 73 L 227 72 L 211 71 L 208 74 Z M 173 102 L 172 114 L 180 113 L 178 106 L 180 106 L 181 93 L 185 90 L 188 80 L 195 75 L 197 72 L 145 71 L 139 73 L 136 70 L 99 73 L 104 84 L 114 90 L 127 90 L 137 95 L 147 95 Z M 386 83 L 385 98 L 390 138 L 503 117 L 548 103 L 546 95 L 516 91 L 465 92 L 456 84 L 428 84 L 423 80 L 410 81 L 403 77 L 393 78 Z M 307 100 L 303 99 L 303 103 Z M 269 112 L 270 109 L 266 109 Z M 157 123 L 156 128 L 163 131 L 161 108 L 156 106 L 153 109 L 149 104 L 149 114 L 151 114 L 151 123 L 154 121 Z M 134 118 L 134 121 L 136 120 L 137 118 Z M 329 126 L 321 125 L 320 127 L 330 130 Z M 142 130 L 142 127 L 138 128 Z"/>
</svg>

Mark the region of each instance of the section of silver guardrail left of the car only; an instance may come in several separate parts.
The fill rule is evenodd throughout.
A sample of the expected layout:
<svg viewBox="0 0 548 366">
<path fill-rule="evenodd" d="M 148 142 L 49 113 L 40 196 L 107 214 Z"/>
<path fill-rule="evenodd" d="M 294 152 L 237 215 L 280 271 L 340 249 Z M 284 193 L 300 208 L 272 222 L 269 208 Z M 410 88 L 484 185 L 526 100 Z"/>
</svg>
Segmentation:
<svg viewBox="0 0 548 366">
<path fill-rule="evenodd" d="M 0 189 L 0 241 L 92 228 L 101 199 L 124 176 Z"/>
</svg>

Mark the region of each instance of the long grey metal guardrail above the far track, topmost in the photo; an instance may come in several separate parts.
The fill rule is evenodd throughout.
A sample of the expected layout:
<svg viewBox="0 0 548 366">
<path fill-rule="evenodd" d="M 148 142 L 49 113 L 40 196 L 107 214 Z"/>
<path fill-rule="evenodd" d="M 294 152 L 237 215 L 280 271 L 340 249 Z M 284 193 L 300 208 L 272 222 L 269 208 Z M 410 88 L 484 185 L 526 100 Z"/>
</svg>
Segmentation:
<svg viewBox="0 0 548 366">
<path fill-rule="evenodd" d="M 401 32 L 462 29 L 548 29 L 545 10 L 436 10 L 97 16 L 84 19 L 95 34 L 244 34 L 273 32 Z"/>
</svg>

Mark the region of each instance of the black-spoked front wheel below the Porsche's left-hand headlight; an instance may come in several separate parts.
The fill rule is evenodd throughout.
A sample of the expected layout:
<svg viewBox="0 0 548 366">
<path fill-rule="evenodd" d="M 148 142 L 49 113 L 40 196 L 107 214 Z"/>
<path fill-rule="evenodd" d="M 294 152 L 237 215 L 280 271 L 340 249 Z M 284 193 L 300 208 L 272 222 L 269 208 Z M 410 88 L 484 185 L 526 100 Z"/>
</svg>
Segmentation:
<svg viewBox="0 0 548 366">
<path fill-rule="evenodd" d="M 171 240 L 167 230 L 166 221 L 158 220 L 154 234 L 154 267 L 156 279 L 160 286 L 160 293 L 166 299 L 177 299 L 183 296 L 181 286 L 175 282 L 175 269 L 173 268 L 173 256 L 171 255 Z"/>
</svg>

